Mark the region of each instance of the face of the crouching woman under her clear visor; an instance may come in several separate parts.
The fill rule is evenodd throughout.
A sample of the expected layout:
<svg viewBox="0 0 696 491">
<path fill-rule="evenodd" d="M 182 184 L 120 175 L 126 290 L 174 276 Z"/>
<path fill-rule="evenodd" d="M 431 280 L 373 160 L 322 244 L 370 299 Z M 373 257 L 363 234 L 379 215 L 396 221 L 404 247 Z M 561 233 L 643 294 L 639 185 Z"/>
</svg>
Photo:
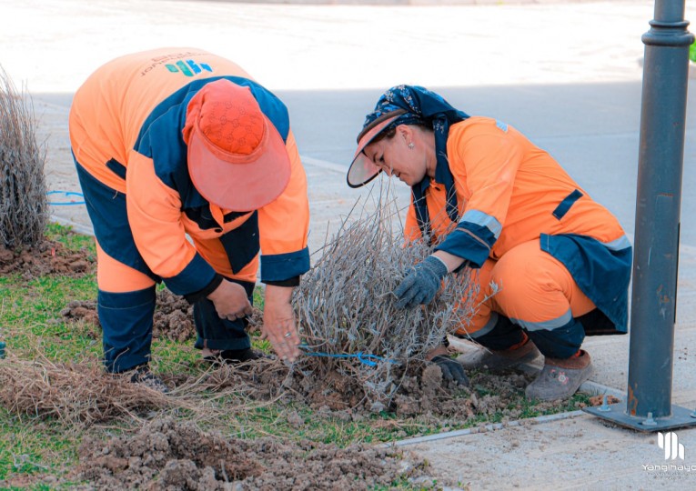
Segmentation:
<svg viewBox="0 0 696 491">
<path fill-rule="evenodd" d="M 414 136 L 413 132 L 404 134 L 397 128 L 393 137 L 366 146 L 365 155 L 387 175 L 396 175 L 407 185 L 417 185 L 426 175 L 426 155 Z"/>
</svg>

